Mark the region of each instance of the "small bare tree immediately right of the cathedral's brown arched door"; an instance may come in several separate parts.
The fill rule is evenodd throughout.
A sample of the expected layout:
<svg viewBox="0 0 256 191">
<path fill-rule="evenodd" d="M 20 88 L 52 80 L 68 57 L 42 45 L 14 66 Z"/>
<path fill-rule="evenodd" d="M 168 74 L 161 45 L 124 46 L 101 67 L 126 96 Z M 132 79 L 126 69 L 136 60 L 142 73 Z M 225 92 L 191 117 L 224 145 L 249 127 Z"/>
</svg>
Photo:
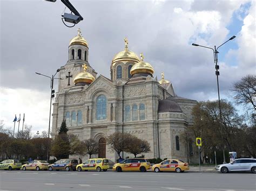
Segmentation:
<svg viewBox="0 0 256 191">
<path fill-rule="evenodd" d="M 111 151 L 116 151 L 118 156 L 120 153 L 127 150 L 130 144 L 130 134 L 115 132 L 106 137 L 106 143 L 110 146 Z"/>
</svg>

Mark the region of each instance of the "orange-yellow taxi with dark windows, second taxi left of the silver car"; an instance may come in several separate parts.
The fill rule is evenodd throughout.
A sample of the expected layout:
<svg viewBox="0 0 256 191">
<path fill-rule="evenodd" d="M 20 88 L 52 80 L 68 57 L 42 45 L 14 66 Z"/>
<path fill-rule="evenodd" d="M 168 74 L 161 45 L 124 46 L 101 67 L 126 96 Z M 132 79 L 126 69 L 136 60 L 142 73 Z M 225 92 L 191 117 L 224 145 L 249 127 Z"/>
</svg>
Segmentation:
<svg viewBox="0 0 256 191">
<path fill-rule="evenodd" d="M 150 169 L 150 162 L 143 158 L 125 159 L 113 165 L 113 171 L 140 171 L 146 172 Z"/>
</svg>

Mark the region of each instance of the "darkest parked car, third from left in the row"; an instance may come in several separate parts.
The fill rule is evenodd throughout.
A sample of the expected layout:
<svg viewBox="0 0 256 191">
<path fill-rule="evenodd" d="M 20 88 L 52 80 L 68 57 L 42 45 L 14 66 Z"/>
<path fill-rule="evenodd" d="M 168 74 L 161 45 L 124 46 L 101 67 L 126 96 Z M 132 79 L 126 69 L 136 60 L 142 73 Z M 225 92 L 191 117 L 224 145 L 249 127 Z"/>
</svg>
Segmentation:
<svg viewBox="0 0 256 191">
<path fill-rule="evenodd" d="M 77 165 L 78 165 L 78 160 L 76 159 L 59 159 L 53 164 L 48 165 L 48 169 L 49 171 L 53 171 L 54 169 L 56 171 L 64 170 L 64 169 L 66 171 L 70 171 L 71 169 L 73 171 L 76 171 Z"/>
</svg>

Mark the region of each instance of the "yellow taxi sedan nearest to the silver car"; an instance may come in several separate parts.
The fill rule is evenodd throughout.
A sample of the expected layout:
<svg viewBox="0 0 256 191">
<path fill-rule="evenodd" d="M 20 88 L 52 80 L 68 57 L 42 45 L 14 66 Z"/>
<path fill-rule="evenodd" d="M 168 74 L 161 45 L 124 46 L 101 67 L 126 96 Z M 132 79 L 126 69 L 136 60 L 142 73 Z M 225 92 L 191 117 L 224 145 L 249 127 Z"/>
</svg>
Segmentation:
<svg viewBox="0 0 256 191">
<path fill-rule="evenodd" d="M 189 170 L 190 167 L 186 162 L 178 159 L 167 159 L 159 164 L 155 164 L 152 166 L 152 170 L 154 172 L 161 172 L 161 171 L 175 171 L 175 172 L 184 172 Z"/>
</svg>

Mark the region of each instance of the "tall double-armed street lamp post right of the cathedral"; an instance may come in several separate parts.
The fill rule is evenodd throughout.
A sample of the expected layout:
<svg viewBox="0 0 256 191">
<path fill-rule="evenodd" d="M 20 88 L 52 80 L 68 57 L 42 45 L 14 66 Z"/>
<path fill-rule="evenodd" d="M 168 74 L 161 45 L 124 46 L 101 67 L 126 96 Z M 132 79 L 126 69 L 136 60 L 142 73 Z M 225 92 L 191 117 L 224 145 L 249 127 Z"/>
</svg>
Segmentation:
<svg viewBox="0 0 256 191">
<path fill-rule="evenodd" d="M 227 43 L 230 40 L 233 40 L 235 38 L 235 36 L 231 37 L 230 39 L 228 39 L 227 41 L 225 41 L 225 43 Z M 214 49 L 211 47 L 207 47 L 207 46 L 201 46 L 198 44 L 192 44 L 192 46 L 200 46 L 200 47 L 204 47 L 204 48 L 209 48 L 213 50 L 213 58 L 214 58 L 214 63 L 215 63 L 215 75 L 217 77 L 217 87 L 218 87 L 218 99 L 219 99 L 219 112 L 220 112 L 220 131 L 221 131 L 221 143 L 222 143 L 222 148 L 223 148 L 223 164 L 226 163 L 226 158 L 225 158 L 225 151 L 224 151 L 224 140 L 223 140 L 223 130 L 222 130 L 222 118 L 221 118 L 221 107 L 220 107 L 220 90 L 219 90 L 219 65 L 218 65 L 218 48 L 221 47 L 222 45 L 224 45 L 225 43 L 221 44 L 220 46 L 218 46 L 216 48 L 216 46 L 214 46 Z"/>
</svg>

